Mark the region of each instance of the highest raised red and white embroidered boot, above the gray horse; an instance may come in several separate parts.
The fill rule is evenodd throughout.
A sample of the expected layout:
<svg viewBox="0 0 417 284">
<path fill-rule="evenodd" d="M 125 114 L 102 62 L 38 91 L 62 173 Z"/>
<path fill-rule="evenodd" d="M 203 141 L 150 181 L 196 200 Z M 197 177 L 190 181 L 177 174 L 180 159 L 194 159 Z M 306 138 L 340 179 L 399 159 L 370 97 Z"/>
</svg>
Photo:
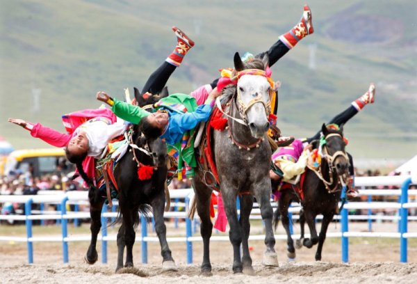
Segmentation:
<svg viewBox="0 0 417 284">
<path fill-rule="evenodd" d="M 304 11 L 300 22 L 296 24 L 291 31 L 281 35 L 279 40 L 281 40 L 286 47 L 292 49 L 300 40 L 302 40 L 302 38 L 311 35 L 311 33 L 314 33 L 311 10 L 308 5 L 304 5 Z"/>
</svg>

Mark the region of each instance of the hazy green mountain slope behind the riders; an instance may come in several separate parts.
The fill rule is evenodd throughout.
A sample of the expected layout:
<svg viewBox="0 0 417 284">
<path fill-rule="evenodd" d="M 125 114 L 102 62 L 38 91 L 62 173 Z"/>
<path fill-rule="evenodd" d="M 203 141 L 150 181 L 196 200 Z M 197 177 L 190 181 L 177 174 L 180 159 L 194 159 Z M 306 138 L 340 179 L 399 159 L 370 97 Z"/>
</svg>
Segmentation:
<svg viewBox="0 0 417 284">
<path fill-rule="evenodd" d="M 282 3 L 281 3 L 282 2 Z M 297 2 L 297 3 L 295 3 Z M 122 97 L 166 56 L 179 26 L 196 42 L 168 82 L 189 93 L 231 67 L 233 54 L 263 52 L 302 14 L 300 1 L 0 1 L 0 136 L 39 148 L 24 118 L 64 130 L 63 113 L 95 108 L 98 90 Z M 377 84 L 375 104 L 345 125 L 354 157 L 417 152 L 416 1 L 313 1 L 315 32 L 272 67 L 281 81 L 279 127 L 312 136 Z"/>
</svg>

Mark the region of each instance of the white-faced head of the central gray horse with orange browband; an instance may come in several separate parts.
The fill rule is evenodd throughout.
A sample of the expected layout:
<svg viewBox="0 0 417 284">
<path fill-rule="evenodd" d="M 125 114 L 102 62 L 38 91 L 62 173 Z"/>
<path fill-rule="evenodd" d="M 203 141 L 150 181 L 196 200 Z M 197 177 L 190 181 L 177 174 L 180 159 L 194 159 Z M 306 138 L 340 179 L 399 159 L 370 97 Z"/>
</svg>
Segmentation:
<svg viewBox="0 0 417 284">
<path fill-rule="evenodd" d="M 252 136 L 259 139 L 268 131 L 268 116 L 270 114 L 270 95 L 273 92 L 273 81 L 268 68 L 268 56 L 255 58 L 243 63 L 238 52 L 234 56 L 236 70 L 236 86 L 240 116 L 250 127 Z"/>
</svg>

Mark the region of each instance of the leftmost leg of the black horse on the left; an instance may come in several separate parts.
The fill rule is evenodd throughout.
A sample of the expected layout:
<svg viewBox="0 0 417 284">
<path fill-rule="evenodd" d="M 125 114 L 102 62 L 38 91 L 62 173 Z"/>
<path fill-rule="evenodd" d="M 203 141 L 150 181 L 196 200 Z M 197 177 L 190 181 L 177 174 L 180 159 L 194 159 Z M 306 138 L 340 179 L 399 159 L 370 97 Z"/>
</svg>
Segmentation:
<svg viewBox="0 0 417 284">
<path fill-rule="evenodd" d="M 90 246 L 88 246 L 87 253 L 85 253 L 84 260 L 89 265 L 93 265 L 99 255 L 97 254 L 97 235 L 99 235 L 101 228 L 101 208 L 103 207 L 104 200 L 99 200 L 97 203 L 92 203 L 90 200 L 90 231 L 91 231 L 91 241 Z"/>
</svg>

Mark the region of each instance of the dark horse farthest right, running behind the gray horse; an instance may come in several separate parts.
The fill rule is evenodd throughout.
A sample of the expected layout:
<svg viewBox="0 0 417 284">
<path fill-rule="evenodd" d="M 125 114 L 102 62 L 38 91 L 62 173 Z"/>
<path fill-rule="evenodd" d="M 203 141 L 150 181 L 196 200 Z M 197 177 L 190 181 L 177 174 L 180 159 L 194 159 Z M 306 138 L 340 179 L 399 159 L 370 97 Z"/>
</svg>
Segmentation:
<svg viewBox="0 0 417 284">
<path fill-rule="evenodd" d="M 346 184 L 349 173 L 349 158 L 345 152 L 345 141 L 343 141 L 343 127 L 341 129 L 327 129 L 322 125 L 324 141 L 320 143 L 322 147 L 322 158 L 318 170 L 306 168 L 304 186 L 304 200 L 300 200 L 300 195 L 294 189 L 283 189 L 278 201 L 278 209 L 275 212 L 275 228 L 281 215 L 282 225 L 287 234 L 288 258 L 295 258 L 295 248 L 293 238 L 289 228 L 288 207 L 292 201 L 302 205 L 300 212 L 301 237 L 297 240 L 297 248 L 303 245 L 311 248 L 318 244 L 316 260 L 321 260 L 322 246 L 326 239 L 327 227 L 332 221 L 334 214 L 338 211 L 338 201 L 341 198 L 341 189 Z M 315 143 L 315 148 L 320 147 Z M 272 182 L 273 184 L 273 182 Z M 300 186 L 300 184 L 297 184 Z M 315 219 L 318 214 L 323 215 L 320 235 L 317 235 Z M 309 225 L 311 237 L 304 239 L 304 222 Z"/>
</svg>

